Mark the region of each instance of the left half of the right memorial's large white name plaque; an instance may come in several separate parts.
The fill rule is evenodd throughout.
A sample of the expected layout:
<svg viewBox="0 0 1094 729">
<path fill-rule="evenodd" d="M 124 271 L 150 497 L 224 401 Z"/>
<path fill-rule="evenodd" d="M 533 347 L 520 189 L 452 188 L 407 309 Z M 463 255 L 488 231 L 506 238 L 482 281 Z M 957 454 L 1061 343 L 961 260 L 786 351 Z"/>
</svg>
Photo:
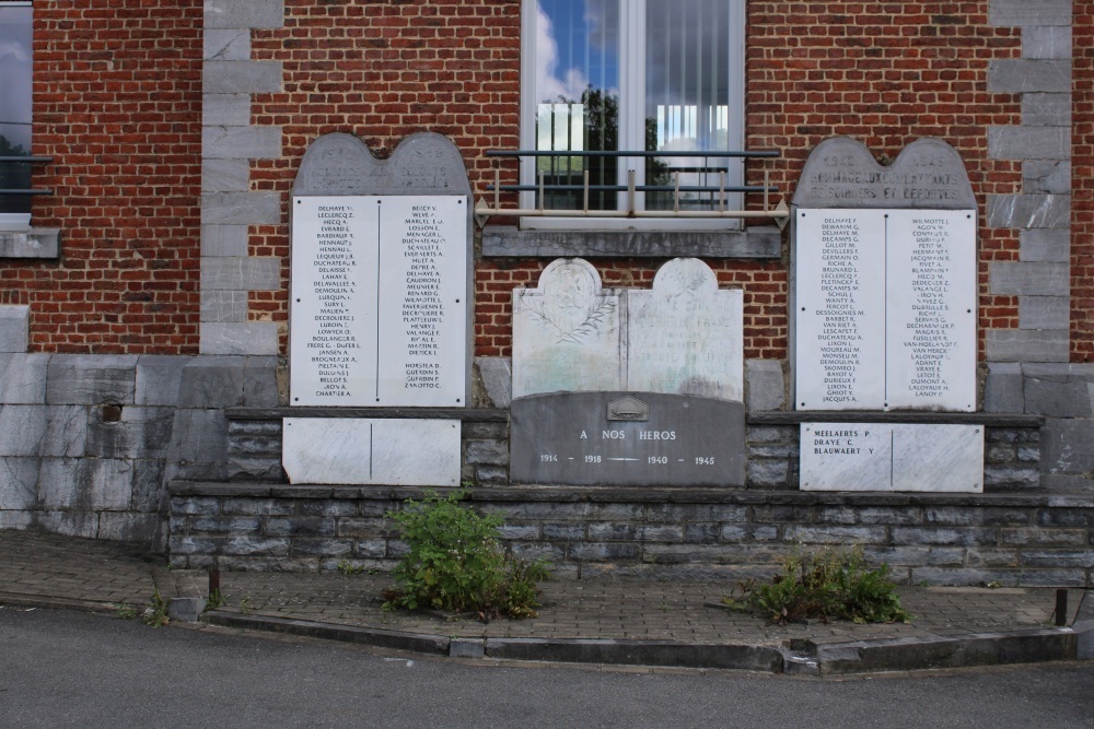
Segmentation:
<svg viewBox="0 0 1094 729">
<path fill-rule="evenodd" d="M 885 216 L 798 215 L 796 405 L 882 408 L 885 399 Z"/>
</svg>

